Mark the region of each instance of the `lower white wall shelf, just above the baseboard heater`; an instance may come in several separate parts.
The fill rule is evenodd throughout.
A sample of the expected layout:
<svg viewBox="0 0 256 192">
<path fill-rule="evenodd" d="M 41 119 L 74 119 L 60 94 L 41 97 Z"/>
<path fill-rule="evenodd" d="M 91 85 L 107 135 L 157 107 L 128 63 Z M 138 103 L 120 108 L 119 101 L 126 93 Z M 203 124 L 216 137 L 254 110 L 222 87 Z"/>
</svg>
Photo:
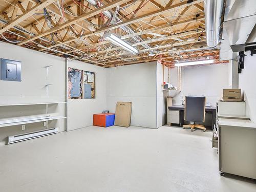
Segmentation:
<svg viewBox="0 0 256 192">
<path fill-rule="evenodd" d="M 41 119 L 33 119 L 31 116 L 23 117 L 22 119 L 2 119 L 0 120 L 0 127 L 5 126 L 14 126 L 14 125 L 23 125 L 23 124 L 29 124 L 29 123 L 36 123 L 36 122 L 43 122 L 43 121 L 51 121 L 56 119 L 64 119 L 66 117 L 63 116 L 48 116 Z M 10 121 L 10 122 L 8 122 Z"/>
</svg>

